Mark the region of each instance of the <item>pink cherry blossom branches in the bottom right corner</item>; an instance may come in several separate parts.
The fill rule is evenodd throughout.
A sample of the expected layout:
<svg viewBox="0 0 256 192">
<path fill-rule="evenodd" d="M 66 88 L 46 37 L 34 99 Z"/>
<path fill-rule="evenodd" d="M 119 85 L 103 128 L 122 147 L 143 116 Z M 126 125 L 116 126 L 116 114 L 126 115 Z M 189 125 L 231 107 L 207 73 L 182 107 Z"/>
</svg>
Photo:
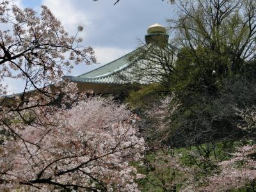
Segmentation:
<svg viewBox="0 0 256 192">
<path fill-rule="evenodd" d="M 200 191 L 228 191 L 239 189 L 252 184 L 255 190 L 256 161 L 253 154 L 256 153 L 256 145 L 246 145 L 238 149 L 233 154 L 234 157 L 227 161 L 222 161 L 220 173 L 209 177 L 209 185 L 200 188 Z"/>
</svg>

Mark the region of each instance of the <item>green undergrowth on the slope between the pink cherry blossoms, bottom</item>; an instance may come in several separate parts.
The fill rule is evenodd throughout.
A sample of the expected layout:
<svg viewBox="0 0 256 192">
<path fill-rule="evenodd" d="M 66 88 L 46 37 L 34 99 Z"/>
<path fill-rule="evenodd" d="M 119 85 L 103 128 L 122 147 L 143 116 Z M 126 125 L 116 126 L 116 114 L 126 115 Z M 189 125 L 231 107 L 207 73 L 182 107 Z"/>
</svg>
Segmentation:
<svg viewBox="0 0 256 192">
<path fill-rule="evenodd" d="M 143 163 L 134 162 L 131 165 L 145 175 L 136 181 L 141 191 L 181 191 L 189 180 L 196 182 L 197 187 L 204 186 L 207 177 L 220 172 L 218 163 L 231 159 L 237 147 L 253 143 L 255 141 L 252 140 L 219 141 L 189 148 L 155 150 L 146 154 Z M 244 188 L 231 191 L 253 189 L 255 183 L 249 182 Z"/>
</svg>

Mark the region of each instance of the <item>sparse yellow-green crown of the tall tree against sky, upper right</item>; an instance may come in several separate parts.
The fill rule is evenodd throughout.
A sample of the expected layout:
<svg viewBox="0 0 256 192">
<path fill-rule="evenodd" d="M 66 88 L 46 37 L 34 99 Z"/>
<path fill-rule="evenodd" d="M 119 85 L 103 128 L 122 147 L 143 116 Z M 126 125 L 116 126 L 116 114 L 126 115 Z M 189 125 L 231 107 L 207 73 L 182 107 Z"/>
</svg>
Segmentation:
<svg viewBox="0 0 256 192">
<path fill-rule="evenodd" d="M 255 58 L 255 1 L 180 0 L 176 4 L 179 17 L 169 20 L 170 28 L 186 50 L 182 62 L 196 69 L 200 86 L 211 90 L 219 78 L 241 72 L 246 61 Z"/>
</svg>

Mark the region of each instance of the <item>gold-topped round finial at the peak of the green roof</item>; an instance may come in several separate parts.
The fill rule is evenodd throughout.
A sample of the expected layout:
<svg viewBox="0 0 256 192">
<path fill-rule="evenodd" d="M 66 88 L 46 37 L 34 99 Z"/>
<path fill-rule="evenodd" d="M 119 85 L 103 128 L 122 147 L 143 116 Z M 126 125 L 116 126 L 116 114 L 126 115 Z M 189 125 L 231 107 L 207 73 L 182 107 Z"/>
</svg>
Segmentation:
<svg viewBox="0 0 256 192">
<path fill-rule="evenodd" d="M 168 44 L 169 35 L 167 35 L 167 30 L 164 26 L 160 24 L 154 24 L 148 27 L 148 34 L 145 35 L 145 40 L 147 44 L 156 44 L 164 46 Z"/>
</svg>

